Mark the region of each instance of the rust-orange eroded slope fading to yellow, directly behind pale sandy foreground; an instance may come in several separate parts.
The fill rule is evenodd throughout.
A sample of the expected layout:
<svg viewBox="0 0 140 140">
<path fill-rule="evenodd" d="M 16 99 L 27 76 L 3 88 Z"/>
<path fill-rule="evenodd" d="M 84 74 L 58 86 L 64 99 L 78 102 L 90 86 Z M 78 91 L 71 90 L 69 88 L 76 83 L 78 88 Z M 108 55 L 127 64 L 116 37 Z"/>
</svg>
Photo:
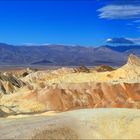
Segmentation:
<svg viewBox="0 0 140 140">
<path fill-rule="evenodd" d="M 67 111 L 78 108 L 140 108 L 140 84 L 80 83 L 53 85 L 1 98 L 18 112 Z M 6 104 L 7 102 L 7 104 Z"/>
</svg>

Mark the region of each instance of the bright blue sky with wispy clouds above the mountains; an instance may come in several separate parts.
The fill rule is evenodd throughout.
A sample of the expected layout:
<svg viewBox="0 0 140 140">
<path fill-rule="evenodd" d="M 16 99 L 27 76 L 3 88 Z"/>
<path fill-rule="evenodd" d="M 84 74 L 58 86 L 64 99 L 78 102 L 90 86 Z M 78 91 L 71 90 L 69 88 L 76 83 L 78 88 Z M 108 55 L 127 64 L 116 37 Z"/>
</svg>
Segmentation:
<svg viewBox="0 0 140 140">
<path fill-rule="evenodd" d="M 100 46 L 140 43 L 140 0 L 1 0 L 0 42 Z"/>
</svg>

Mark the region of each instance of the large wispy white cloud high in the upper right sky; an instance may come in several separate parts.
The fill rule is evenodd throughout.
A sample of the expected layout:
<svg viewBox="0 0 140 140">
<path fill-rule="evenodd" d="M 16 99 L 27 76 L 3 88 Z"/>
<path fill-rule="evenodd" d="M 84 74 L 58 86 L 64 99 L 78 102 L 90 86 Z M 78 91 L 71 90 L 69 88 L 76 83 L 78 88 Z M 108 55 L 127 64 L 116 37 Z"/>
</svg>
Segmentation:
<svg viewBox="0 0 140 140">
<path fill-rule="evenodd" d="M 97 11 L 99 17 L 105 19 L 140 18 L 140 6 L 135 5 L 107 5 Z"/>
</svg>

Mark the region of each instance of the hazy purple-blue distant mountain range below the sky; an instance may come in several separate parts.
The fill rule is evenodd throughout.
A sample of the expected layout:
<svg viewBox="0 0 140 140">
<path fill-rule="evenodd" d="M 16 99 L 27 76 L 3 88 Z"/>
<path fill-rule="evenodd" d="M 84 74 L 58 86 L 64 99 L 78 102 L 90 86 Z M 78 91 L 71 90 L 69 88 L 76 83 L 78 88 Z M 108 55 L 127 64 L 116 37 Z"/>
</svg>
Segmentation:
<svg viewBox="0 0 140 140">
<path fill-rule="evenodd" d="M 140 46 L 82 47 L 65 45 L 15 46 L 0 43 L 0 65 L 112 65 L 120 66 L 129 54 L 140 56 Z"/>
</svg>

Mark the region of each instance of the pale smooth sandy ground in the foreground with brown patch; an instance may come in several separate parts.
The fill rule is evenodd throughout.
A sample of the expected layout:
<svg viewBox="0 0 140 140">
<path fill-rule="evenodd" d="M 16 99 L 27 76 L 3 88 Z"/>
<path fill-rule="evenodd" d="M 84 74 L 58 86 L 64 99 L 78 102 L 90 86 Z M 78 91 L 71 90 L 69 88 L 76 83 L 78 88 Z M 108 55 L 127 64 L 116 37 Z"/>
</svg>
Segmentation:
<svg viewBox="0 0 140 140">
<path fill-rule="evenodd" d="M 81 109 L 0 119 L 0 139 L 139 139 L 140 110 Z"/>
</svg>

